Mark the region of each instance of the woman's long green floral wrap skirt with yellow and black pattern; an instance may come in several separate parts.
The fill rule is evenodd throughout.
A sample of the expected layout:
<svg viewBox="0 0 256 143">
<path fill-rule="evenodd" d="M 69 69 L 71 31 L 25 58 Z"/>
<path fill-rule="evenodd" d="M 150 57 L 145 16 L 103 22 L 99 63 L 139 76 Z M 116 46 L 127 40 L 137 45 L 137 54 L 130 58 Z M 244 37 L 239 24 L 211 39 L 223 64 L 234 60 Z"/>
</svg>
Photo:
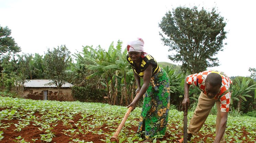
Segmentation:
<svg viewBox="0 0 256 143">
<path fill-rule="evenodd" d="M 137 133 L 144 134 L 146 139 L 152 139 L 157 134 L 165 134 L 170 108 L 169 82 L 167 73 L 161 68 L 152 76 L 148 90 L 143 97 Z"/>
</svg>

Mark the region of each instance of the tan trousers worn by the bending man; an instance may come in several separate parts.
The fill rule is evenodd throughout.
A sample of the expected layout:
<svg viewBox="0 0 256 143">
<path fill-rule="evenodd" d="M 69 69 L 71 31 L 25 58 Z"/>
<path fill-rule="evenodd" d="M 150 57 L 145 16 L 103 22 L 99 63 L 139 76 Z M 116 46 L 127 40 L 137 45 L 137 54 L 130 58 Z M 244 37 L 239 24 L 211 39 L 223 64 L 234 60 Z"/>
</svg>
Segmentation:
<svg viewBox="0 0 256 143">
<path fill-rule="evenodd" d="M 217 111 L 217 118 L 216 118 L 216 135 L 218 134 L 218 129 L 220 125 L 220 100 L 216 100 L 214 98 L 208 98 L 203 92 L 201 92 L 199 98 L 198 98 L 198 104 L 196 107 L 196 110 L 194 112 L 193 117 L 190 120 L 189 126 L 188 126 L 188 133 L 196 135 L 198 131 L 202 128 L 203 124 L 205 123 L 205 120 L 207 119 L 212 107 L 216 103 L 218 107 Z M 224 135 L 220 141 L 220 143 L 224 143 Z"/>
</svg>

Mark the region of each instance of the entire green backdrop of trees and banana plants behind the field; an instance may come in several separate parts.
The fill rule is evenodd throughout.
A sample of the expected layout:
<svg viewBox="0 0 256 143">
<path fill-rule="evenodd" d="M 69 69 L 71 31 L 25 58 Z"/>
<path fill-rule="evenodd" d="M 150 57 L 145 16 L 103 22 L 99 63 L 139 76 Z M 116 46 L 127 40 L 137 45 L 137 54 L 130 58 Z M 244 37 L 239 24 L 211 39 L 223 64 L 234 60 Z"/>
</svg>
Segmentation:
<svg viewBox="0 0 256 143">
<path fill-rule="evenodd" d="M 218 58 L 213 56 L 222 51 L 225 44 L 225 25 L 224 17 L 215 8 L 208 12 L 203 8 L 198 10 L 196 6 L 179 6 L 162 17 L 159 24 L 162 41 L 164 45 L 170 46 L 170 50 L 176 51 L 175 55 L 170 55 L 170 59 L 183 63 L 180 67 L 159 62 L 170 78 L 171 103 L 176 109 L 181 110 L 186 75 L 218 66 Z M 65 82 L 73 84 L 73 96 L 83 102 L 97 101 L 127 106 L 134 99 L 137 87 L 131 66 L 126 61 L 127 50 L 122 41 L 118 40 L 116 44 L 113 41 L 107 48 L 86 45 L 82 52 L 73 53 L 72 57 L 65 45 L 53 48 L 53 51 L 48 48 L 44 56 L 37 53 L 18 55 L 20 47 L 10 34 L 8 27 L 0 26 L 2 91 L 14 90 L 18 95 L 23 92 L 25 80 L 49 79 L 58 89 Z M 231 78 L 234 95 L 231 97 L 232 113 L 256 110 L 255 81 L 252 80 L 256 70 L 249 68 L 249 71 L 251 77 Z M 248 85 L 240 84 L 238 87 L 243 81 L 248 82 Z M 195 108 L 199 94 L 197 87 L 189 89 L 191 109 Z"/>
</svg>

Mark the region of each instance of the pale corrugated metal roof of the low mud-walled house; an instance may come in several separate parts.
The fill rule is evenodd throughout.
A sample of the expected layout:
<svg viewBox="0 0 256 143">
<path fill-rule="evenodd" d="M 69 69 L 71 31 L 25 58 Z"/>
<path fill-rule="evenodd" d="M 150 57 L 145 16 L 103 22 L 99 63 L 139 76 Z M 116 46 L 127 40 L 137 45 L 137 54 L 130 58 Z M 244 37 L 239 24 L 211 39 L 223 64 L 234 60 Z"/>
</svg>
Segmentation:
<svg viewBox="0 0 256 143">
<path fill-rule="evenodd" d="M 48 85 L 51 80 L 26 80 L 24 87 L 57 87 L 56 85 Z M 66 82 L 61 87 L 72 87 L 74 85 Z"/>
</svg>

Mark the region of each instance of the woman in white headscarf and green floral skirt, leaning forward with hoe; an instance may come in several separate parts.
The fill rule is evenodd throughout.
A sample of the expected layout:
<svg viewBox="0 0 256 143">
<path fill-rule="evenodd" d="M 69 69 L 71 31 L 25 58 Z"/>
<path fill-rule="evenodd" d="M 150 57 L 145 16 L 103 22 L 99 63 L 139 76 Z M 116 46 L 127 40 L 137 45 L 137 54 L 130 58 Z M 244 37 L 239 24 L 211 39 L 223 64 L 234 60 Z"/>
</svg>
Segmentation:
<svg viewBox="0 0 256 143">
<path fill-rule="evenodd" d="M 129 108 L 136 108 L 139 99 L 144 95 L 140 115 L 138 133 L 150 142 L 154 135 L 165 134 L 170 108 L 170 87 L 167 73 L 159 67 L 155 59 L 144 52 L 144 41 L 138 38 L 127 45 L 127 61 L 130 63 L 137 84 L 138 96 L 132 101 Z M 143 85 L 140 86 L 140 77 Z"/>
</svg>

